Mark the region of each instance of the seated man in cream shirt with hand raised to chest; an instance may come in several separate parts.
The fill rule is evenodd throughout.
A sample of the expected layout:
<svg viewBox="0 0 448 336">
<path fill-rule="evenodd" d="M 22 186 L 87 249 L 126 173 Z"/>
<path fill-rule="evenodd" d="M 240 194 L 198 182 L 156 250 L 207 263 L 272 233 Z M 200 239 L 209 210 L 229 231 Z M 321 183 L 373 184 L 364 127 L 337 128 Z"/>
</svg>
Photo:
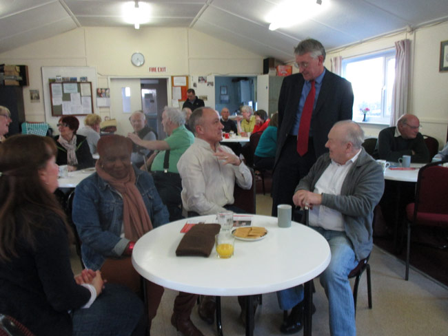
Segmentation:
<svg viewBox="0 0 448 336">
<path fill-rule="evenodd" d="M 210 107 L 195 109 L 190 117 L 194 143 L 177 163 L 182 178 L 182 203 L 185 211 L 214 215 L 233 206 L 234 184 L 252 187 L 250 169 L 234 154 L 221 146 L 223 125 L 218 113 Z"/>
</svg>

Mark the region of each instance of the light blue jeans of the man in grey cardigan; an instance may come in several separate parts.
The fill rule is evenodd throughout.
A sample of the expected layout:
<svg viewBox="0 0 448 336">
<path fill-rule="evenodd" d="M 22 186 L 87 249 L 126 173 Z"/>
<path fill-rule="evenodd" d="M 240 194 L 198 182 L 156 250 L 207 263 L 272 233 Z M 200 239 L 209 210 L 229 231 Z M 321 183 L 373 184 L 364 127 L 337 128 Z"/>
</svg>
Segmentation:
<svg viewBox="0 0 448 336">
<path fill-rule="evenodd" d="M 320 274 L 320 284 L 325 289 L 329 305 L 329 330 L 332 336 L 356 336 L 355 306 L 348 275 L 356 267 L 353 246 L 343 231 L 312 227 L 329 244 L 332 260 Z M 282 310 L 294 307 L 303 300 L 303 286 L 277 292 Z"/>
</svg>

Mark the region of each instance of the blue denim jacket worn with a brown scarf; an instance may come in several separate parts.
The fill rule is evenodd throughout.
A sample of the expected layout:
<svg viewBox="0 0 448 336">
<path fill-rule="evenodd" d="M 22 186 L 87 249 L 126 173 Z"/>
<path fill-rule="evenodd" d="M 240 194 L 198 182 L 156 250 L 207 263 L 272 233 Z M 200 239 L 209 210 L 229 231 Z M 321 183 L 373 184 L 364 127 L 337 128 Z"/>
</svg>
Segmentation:
<svg viewBox="0 0 448 336">
<path fill-rule="evenodd" d="M 134 167 L 134 166 L 133 166 Z M 162 203 L 152 176 L 134 167 L 136 187 L 143 196 L 152 226 L 167 223 L 168 211 Z M 81 239 L 81 254 L 88 269 L 101 269 L 105 258 L 121 257 L 129 240 L 121 238 L 123 198 L 108 182 L 94 173 L 79 183 L 73 200 L 72 219 Z"/>
</svg>

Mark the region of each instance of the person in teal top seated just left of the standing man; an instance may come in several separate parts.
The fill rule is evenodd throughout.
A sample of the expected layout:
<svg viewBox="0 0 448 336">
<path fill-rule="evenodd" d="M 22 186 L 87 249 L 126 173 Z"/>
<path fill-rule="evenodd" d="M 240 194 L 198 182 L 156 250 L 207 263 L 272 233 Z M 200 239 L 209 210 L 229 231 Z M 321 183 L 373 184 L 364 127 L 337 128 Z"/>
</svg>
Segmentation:
<svg viewBox="0 0 448 336">
<path fill-rule="evenodd" d="M 269 126 L 263 134 L 255 149 L 254 169 L 274 168 L 275 152 L 277 149 L 278 113 L 272 114 Z"/>
</svg>

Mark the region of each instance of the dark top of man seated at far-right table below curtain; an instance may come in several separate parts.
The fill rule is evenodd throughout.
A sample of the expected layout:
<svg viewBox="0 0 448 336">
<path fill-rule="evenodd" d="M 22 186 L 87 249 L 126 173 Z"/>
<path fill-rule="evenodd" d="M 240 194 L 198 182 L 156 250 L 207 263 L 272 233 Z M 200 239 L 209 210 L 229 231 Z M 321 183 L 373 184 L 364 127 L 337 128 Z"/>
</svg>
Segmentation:
<svg viewBox="0 0 448 336">
<path fill-rule="evenodd" d="M 405 139 L 395 136 L 395 128 L 387 127 L 378 134 L 374 158 L 398 162 L 403 155 L 410 155 L 411 162 L 426 163 L 431 160 L 422 134 L 418 133 L 415 139 Z M 416 154 L 412 155 L 412 151 Z"/>
</svg>

